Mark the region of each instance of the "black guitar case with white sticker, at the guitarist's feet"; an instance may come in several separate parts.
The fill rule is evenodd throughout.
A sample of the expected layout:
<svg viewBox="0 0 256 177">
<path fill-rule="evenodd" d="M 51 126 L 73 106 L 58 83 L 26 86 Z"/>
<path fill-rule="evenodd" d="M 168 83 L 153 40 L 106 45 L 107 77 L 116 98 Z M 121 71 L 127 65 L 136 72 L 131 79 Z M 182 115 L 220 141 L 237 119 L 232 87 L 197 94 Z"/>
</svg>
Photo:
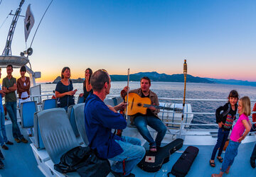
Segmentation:
<svg viewBox="0 0 256 177">
<path fill-rule="evenodd" d="M 161 166 L 169 161 L 171 154 L 181 149 L 183 139 L 175 139 L 164 147 L 157 149 L 157 152 L 146 151 L 146 154 L 138 166 L 146 172 L 156 172 L 161 169 Z"/>
</svg>

